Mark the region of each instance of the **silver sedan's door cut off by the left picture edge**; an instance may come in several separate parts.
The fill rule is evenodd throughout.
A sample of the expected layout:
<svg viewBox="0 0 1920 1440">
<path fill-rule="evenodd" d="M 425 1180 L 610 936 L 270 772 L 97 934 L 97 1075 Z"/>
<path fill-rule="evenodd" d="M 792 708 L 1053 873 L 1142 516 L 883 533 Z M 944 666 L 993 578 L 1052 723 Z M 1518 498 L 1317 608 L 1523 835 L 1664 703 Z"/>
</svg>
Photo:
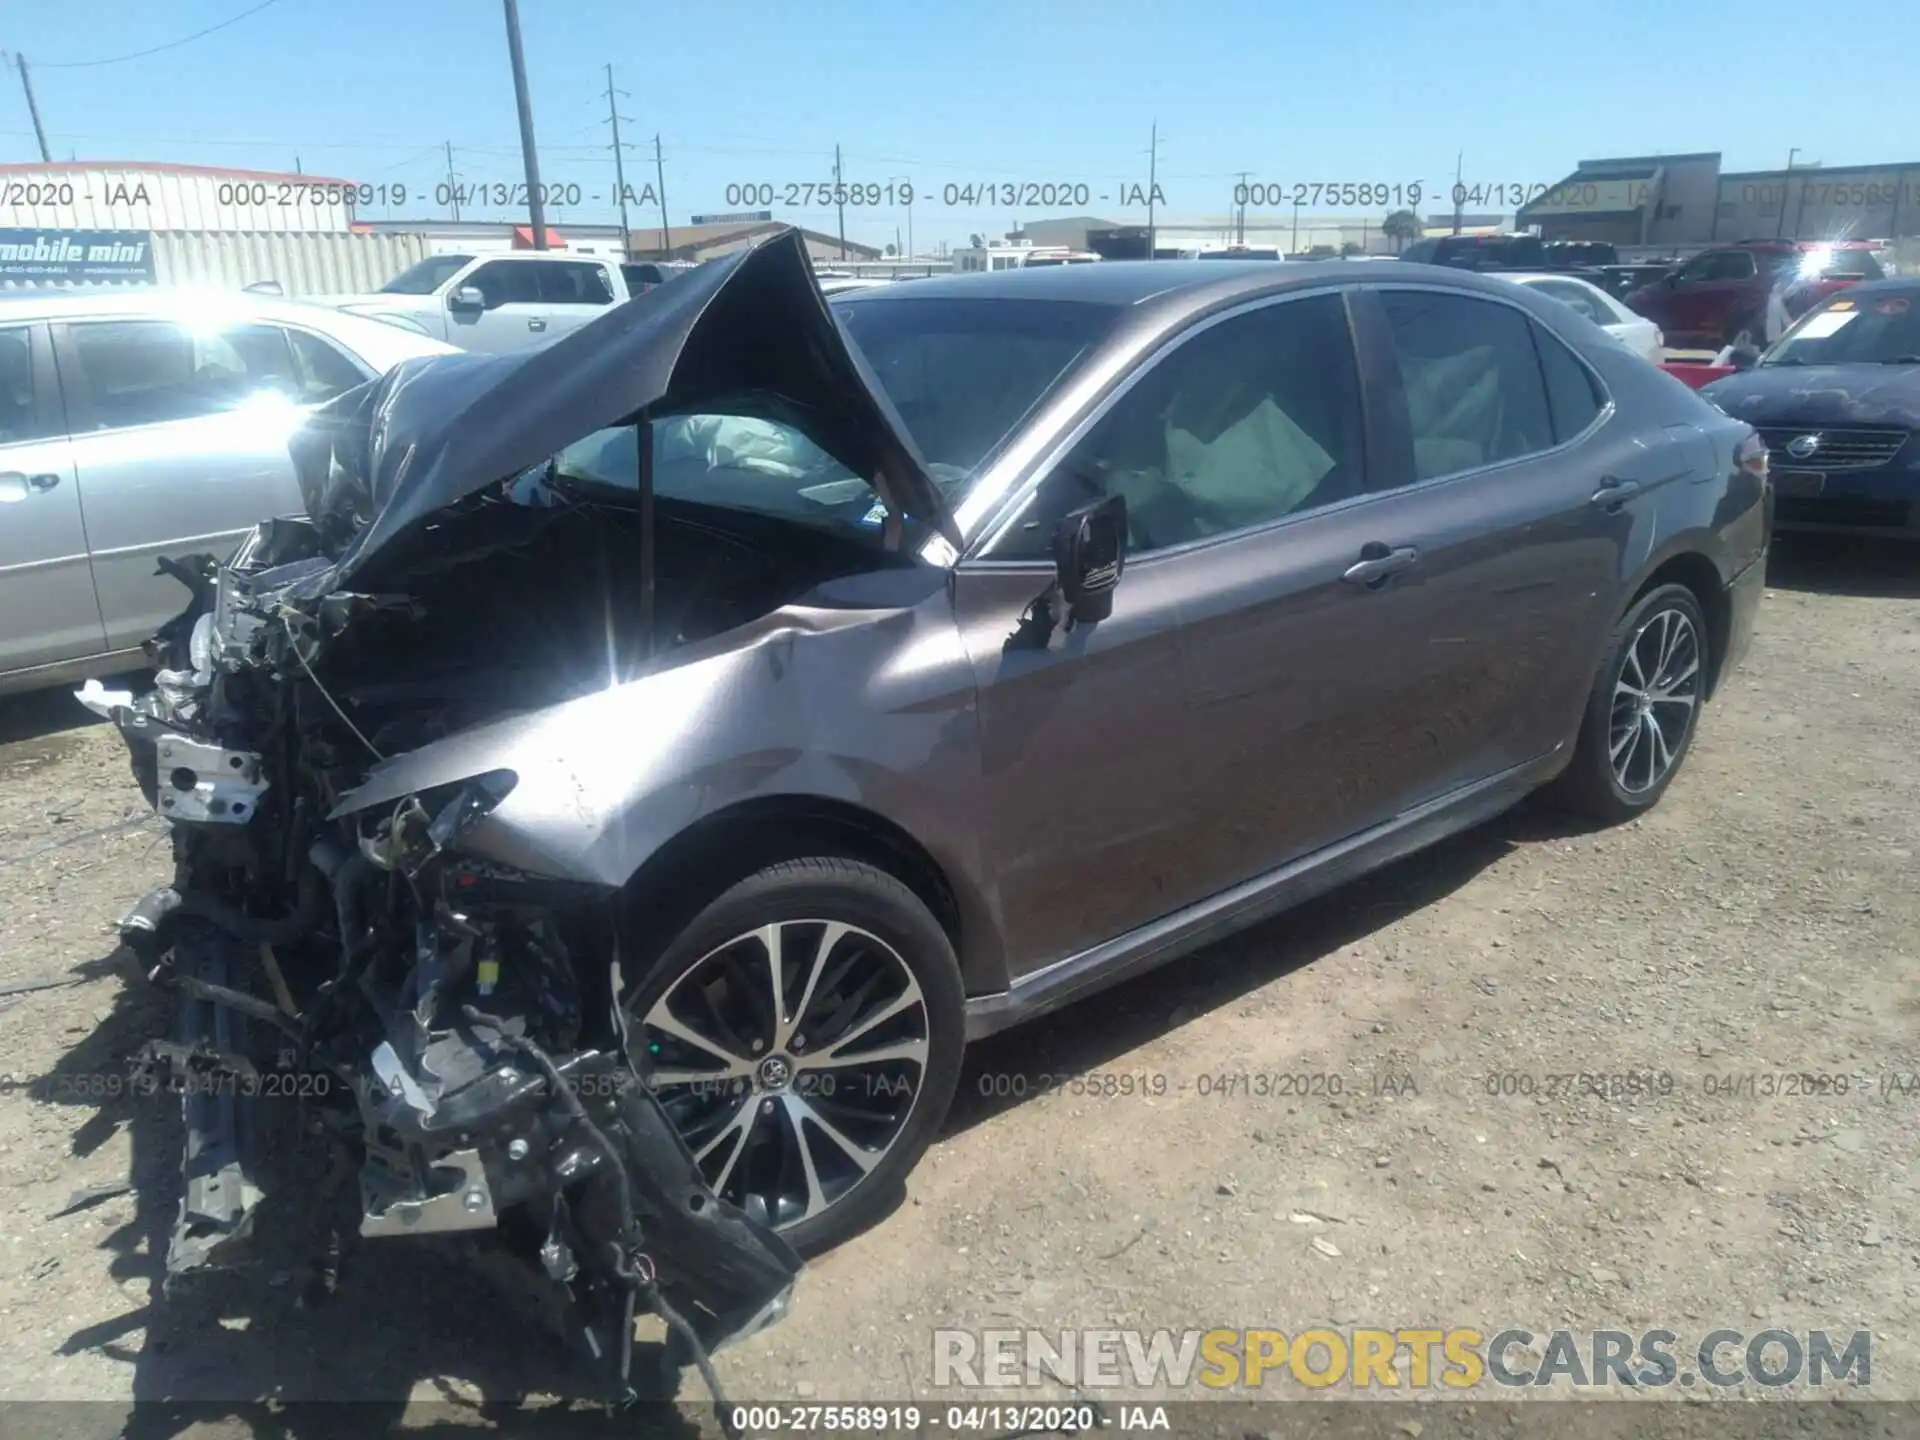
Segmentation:
<svg viewBox="0 0 1920 1440">
<path fill-rule="evenodd" d="M 48 330 L 0 326 L 0 672 L 104 649 Z"/>
</svg>

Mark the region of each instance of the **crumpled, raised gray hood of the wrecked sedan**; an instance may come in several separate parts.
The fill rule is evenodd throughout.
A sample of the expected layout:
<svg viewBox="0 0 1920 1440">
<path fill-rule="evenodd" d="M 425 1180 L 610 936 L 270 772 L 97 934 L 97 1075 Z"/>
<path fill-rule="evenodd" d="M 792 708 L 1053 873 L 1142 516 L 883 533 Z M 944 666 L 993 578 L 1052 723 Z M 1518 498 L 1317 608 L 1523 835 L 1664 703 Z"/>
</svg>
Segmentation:
<svg viewBox="0 0 1920 1440">
<path fill-rule="evenodd" d="M 313 413 L 290 449 L 330 588 L 376 588 L 430 516 L 636 413 L 793 424 L 887 505 L 960 536 L 814 280 L 799 230 L 710 261 L 538 349 L 430 355 Z"/>
</svg>

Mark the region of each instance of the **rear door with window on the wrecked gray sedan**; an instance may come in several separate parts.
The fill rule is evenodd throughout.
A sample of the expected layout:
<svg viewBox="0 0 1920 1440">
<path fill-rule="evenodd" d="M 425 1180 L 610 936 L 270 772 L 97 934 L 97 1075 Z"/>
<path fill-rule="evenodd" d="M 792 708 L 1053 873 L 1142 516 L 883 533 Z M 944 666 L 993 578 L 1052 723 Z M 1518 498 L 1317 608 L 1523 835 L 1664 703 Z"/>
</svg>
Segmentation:
<svg viewBox="0 0 1920 1440">
<path fill-rule="evenodd" d="M 1572 737 L 1649 492 L 1686 461 L 1519 303 L 1382 286 L 1356 309 L 1394 376 L 1377 538 L 1419 555 L 1380 616 L 1405 666 L 1380 785 L 1404 810 Z"/>
</svg>

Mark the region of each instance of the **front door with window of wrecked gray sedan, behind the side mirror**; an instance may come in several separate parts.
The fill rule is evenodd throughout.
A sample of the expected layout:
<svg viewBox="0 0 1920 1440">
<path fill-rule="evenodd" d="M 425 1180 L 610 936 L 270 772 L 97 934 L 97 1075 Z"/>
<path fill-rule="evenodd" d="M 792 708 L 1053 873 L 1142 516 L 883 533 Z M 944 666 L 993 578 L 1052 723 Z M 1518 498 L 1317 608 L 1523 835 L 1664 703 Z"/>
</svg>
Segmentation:
<svg viewBox="0 0 1920 1440">
<path fill-rule="evenodd" d="M 1377 595 L 1340 582 L 1363 428 L 1338 294 L 1202 323 L 960 568 L 1016 973 L 1357 826 L 1356 724 L 1398 678 L 1367 649 Z M 1052 526 L 1104 495 L 1129 518 L 1112 618 L 996 655 Z"/>
</svg>

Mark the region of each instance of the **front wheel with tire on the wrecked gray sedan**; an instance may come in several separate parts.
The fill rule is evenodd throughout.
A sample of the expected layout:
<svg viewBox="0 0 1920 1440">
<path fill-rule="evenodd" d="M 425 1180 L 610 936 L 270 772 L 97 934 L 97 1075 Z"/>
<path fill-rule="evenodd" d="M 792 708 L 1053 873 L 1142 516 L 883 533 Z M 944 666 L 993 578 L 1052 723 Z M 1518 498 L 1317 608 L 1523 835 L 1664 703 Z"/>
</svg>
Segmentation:
<svg viewBox="0 0 1920 1440">
<path fill-rule="evenodd" d="M 895 1204 L 966 1046 L 947 931 L 899 879 L 839 856 L 726 889 L 632 989 L 626 1021 L 707 1183 L 801 1254 Z"/>
</svg>

